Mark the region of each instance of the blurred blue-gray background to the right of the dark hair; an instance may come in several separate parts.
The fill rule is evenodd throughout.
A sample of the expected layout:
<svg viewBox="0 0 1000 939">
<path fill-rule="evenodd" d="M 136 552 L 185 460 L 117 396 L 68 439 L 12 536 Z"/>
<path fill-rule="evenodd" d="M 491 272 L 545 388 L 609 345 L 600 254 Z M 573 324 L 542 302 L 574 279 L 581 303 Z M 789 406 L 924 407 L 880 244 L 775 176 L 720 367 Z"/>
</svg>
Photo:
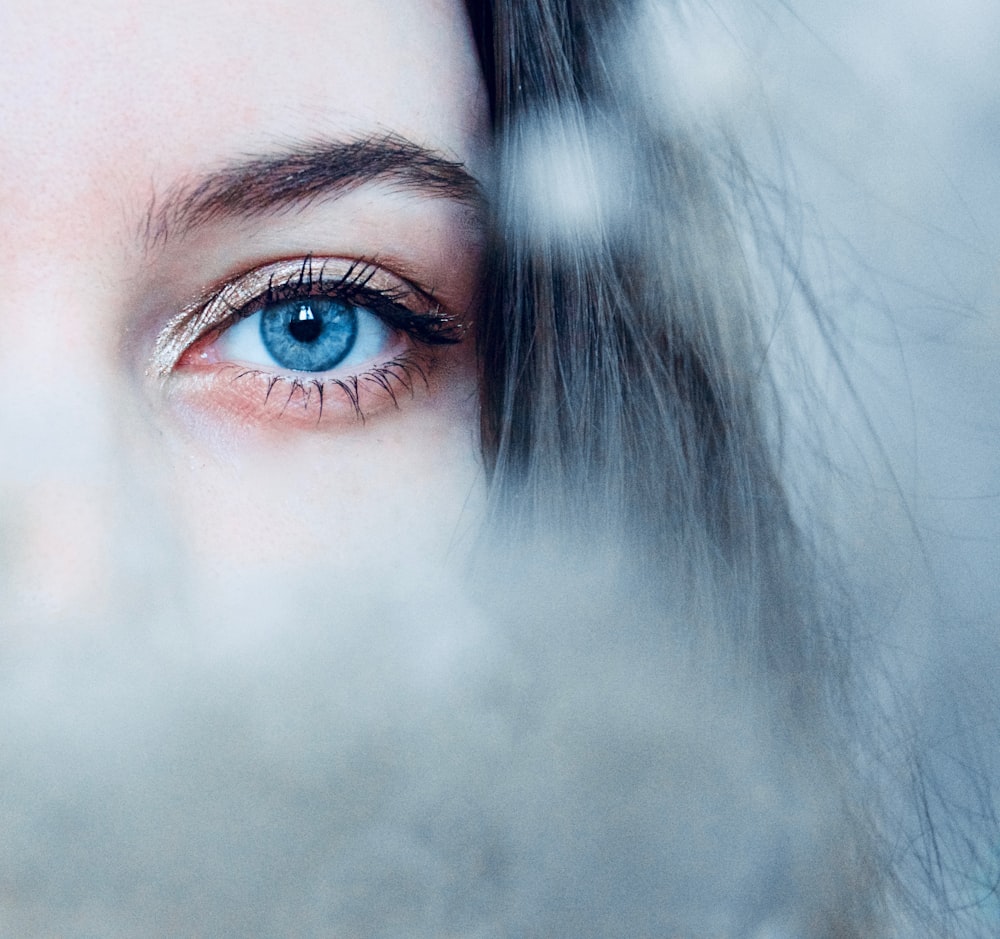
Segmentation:
<svg viewBox="0 0 1000 939">
<path fill-rule="evenodd" d="M 836 516 L 858 584 L 860 654 L 888 676 L 889 774 L 903 800 L 908 773 L 926 780 L 928 814 L 906 803 L 901 840 L 932 853 L 934 826 L 935 877 L 970 904 L 957 934 L 977 924 L 993 935 L 1000 5 L 727 2 L 709 19 L 730 50 L 715 80 L 732 116 L 796 193 L 789 251 L 856 394 L 814 345 L 837 482 L 806 486 L 803 513 L 814 500 Z M 763 109 L 750 103 L 761 91 Z"/>
</svg>

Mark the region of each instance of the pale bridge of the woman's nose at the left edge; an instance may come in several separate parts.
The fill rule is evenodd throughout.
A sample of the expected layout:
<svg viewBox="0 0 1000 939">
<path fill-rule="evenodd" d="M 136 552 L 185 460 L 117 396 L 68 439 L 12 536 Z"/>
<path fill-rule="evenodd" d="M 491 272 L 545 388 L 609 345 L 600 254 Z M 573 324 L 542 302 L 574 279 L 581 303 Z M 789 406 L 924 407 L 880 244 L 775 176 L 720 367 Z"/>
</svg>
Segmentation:
<svg viewBox="0 0 1000 939">
<path fill-rule="evenodd" d="M 111 278 L 27 239 L 4 268 L 0 623 L 16 630 L 108 607 L 129 453 Z"/>
</svg>

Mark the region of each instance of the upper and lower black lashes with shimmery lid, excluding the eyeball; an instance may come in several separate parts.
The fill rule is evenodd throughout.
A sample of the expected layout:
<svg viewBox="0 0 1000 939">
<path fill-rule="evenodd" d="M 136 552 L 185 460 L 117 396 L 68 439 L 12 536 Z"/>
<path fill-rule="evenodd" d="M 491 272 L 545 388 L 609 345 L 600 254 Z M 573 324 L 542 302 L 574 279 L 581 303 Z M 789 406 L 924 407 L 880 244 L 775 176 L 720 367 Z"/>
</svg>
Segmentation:
<svg viewBox="0 0 1000 939">
<path fill-rule="evenodd" d="M 330 276 L 330 267 L 340 268 L 336 276 Z M 463 340 L 466 331 L 464 322 L 445 313 L 429 291 L 390 274 L 372 261 L 316 259 L 307 255 L 253 268 L 190 304 L 160 334 L 153 355 L 155 368 L 162 377 L 167 377 L 184 369 L 186 364 L 193 365 L 192 359 L 199 348 L 218 341 L 240 321 L 272 304 L 305 299 L 334 300 L 366 311 L 392 332 L 407 336 L 419 346 L 454 345 Z M 276 386 L 287 384 L 288 398 L 282 414 L 297 395 L 308 409 L 315 391 L 319 398 L 317 421 L 321 420 L 325 392 L 333 388 L 344 395 L 362 422 L 365 410 L 361 389 L 365 383 L 380 389 L 398 407 L 397 389 L 412 393 L 417 379 L 426 384 L 425 364 L 413 350 L 386 361 L 372 362 L 363 372 L 333 376 L 317 372 L 316 377 L 303 377 L 310 373 L 229 363 L 238 369 L 234 382 L 248 377 L 266 380 L 262 405 L 267 405 Z"/>
</svg>

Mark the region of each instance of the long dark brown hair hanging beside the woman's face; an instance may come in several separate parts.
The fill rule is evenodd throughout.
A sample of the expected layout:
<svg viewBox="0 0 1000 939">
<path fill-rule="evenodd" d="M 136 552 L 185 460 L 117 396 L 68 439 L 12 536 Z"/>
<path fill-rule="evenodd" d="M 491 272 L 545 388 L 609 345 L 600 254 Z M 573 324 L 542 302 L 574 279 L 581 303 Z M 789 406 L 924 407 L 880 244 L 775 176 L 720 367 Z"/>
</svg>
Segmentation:
<svg viewBox="0 0 1000 939">
<path fill-rule="evenodd" d="M 663 628 L 726 644 L 846 791 L 844 626 L 776 468 L 747 228 L 723 185 L 739 160 L 637 86 L 622 50 L 640 4 L 467 7 L 496 140 L 478 333 L 495 515 L 619 546 Z M 550 188 L 585 181 L 581 221 L 550 217 L 539 163 Z M 825 857 L 811 936 L 872 934 L 865 824 Z"/>
</svg>

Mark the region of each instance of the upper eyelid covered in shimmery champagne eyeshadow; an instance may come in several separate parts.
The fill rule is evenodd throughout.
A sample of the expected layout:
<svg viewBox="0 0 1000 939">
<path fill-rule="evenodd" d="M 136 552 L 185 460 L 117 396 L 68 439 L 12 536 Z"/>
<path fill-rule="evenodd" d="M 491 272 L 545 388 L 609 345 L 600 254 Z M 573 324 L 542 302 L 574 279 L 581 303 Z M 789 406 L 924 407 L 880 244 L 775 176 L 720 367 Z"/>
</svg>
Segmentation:
<svg viewBox="0 0 1000 939">
<path fill-rule="evenodd" d="M 425 306 L 427 312 L 436 306 L 433 294 L 411 281 L 387 270 L 384 266 L 361 258 L 323 257 L 311 255 L 273 261 L 252 267 L 242 274 L 226 278 L 221 285 L 206 290 L 187 304 L 161 330 L 156 339 L 151 357 L 151 370 L 159 377 L 165 377 L 191 345 L 215 327 L 224 328 L 239 311 L 260 300 L 273 289 L 275 281 L 282 278 L 282 287 L 294 285 L 295 278 L 308 277 L 313 286 L 327 283 L 331 288 L 335 282 L 360 270 L 364 289 L 372 293 L 392 294 L 398 302 L 416 301 Z M 328 271 L 336 273 L 327 273 Z M 337 276 L 339 275 L 339 277 Z"/>
</svg>

